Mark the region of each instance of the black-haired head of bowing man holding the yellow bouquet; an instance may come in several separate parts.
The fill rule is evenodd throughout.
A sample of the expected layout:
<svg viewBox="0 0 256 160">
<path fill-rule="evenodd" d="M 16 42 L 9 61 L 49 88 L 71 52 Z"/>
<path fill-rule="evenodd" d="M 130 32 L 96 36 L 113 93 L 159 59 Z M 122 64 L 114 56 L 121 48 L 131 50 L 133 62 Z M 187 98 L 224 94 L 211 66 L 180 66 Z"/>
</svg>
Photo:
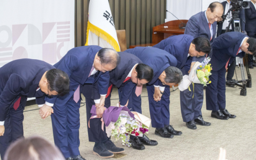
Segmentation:
<svg viewBox="0 0 256 160">
<path fill-rule="evenodd" d="M 208 54 L 211 51 L 211 44 L 205 37 L 193 39 L 189 46 L 189 55 L 191 57 L 200 57 Z"/>
</svg>

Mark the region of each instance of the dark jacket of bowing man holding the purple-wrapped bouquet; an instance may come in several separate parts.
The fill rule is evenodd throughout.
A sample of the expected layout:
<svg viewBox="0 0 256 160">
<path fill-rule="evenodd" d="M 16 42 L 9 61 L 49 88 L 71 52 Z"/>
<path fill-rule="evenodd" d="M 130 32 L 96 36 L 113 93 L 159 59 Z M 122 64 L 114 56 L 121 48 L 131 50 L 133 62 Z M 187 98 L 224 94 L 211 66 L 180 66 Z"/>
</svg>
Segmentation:
<svg viewBox="0 0 256 160">
<path fill-rule="evenodd" d="M 109 72 L 109 86 L 113 84 L 113 86 L 116 86 L 119 89 L 122 88 L 122 95 L 119 101 L 120 105 L 125 105 L 132 93 L 132 90 L 137 85 L 133 83 L 131 79 L 129 79 L 128 81 L 125 81 L 125 79 L 135 64 L 142 64 L 143 62 L 135 55 L 132 55 L 127 52 L 118 52 L 118 54 L 121 58 L 121 61 L 114 70 Z M 125 83 L 123 83 L 123 81 L 125 81 Z M 95 89 L 98 89 L 97 85 L 93 85 L 93 90 Z M 95 99 L 99 98 L 100 96 L 98 94 L 98 97 Z"/>
</svg>

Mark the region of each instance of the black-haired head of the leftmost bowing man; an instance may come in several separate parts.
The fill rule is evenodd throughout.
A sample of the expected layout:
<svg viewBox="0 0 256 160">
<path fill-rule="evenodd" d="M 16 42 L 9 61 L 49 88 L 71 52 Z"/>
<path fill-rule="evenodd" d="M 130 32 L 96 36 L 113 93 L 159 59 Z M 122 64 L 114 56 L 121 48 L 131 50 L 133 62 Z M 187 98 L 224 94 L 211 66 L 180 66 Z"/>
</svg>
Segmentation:
<svg viewBox="0 0 256 160">
<path fill-rule="evenodd" d="M 69 92 L 70 79 L 67 73 L 58 69 L 51 69 L 44 73 L 39 81 L 42 92 L 48 96 L 64 96 Z"/>
</svg>

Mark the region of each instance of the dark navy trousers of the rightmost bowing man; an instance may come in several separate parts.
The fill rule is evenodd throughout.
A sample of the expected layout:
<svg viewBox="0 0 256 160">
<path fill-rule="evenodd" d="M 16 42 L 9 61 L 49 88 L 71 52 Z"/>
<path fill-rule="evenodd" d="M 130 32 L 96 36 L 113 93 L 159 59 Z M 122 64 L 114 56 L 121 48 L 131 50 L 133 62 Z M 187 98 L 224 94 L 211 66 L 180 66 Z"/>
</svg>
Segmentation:
<svg viewBox="0 0 256 160">
<path fill-rule="evenodd" d="M 209 81 L 206 87 L 206 109 L 211 111 L 224 110 L 226 108 L 226 68 L 222 67 L 218 71 L 212 70 L 212 75 L 209 76 Z"/>
</svg>

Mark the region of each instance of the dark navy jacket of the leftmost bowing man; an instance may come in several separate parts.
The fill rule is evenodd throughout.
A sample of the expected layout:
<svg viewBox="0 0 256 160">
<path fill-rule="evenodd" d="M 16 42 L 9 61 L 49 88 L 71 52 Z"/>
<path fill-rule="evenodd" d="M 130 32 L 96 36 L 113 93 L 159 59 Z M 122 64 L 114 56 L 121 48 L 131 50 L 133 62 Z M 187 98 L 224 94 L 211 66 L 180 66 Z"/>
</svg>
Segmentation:
<svg viewBox="0 0 256 160">
<path fill-rule="evenodd" d="M 43 105 L 46 96 L 37 90 L 39 81 L 47 70 L 55 67 L 35 59 L 18 59 L 0 68 L 0 121 L 6 119 L 9 106 L 21 96 L 36 97 L 36 103 Z M 23 104 L 24 106 L 26 105 Z"/>
</svg>

